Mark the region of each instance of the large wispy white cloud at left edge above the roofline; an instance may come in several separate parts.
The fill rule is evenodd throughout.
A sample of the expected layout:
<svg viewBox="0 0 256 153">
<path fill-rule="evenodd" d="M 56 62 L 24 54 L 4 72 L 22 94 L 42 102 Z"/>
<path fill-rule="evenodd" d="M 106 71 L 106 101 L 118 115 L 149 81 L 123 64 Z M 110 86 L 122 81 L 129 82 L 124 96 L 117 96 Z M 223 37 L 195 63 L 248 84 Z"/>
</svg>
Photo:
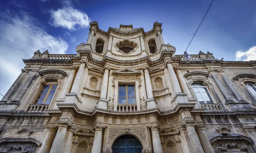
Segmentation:
<svg viewBox="0 0 256 153">
<path fill-rule="evenodd" d="M 31 58 L 38 49 L 64 54 L 68 44 L 48 34 L 38 20 L 28 14 L 20 17 L 7 12 L 0 14 L 0 94 L 6 94 L 25 65 L 22 59 Z"/>
</svg>

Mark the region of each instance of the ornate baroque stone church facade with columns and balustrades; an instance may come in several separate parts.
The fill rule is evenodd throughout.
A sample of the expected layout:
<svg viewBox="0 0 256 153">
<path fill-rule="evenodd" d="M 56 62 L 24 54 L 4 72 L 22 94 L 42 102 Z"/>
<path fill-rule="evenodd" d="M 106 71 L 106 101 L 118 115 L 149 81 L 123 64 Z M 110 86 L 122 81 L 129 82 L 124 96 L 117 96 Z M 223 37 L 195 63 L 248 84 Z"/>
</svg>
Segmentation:
<svg viewBox="0 0 256 153">
<path fill-rule="evenodd" d="M 254 153 L 256 61 L 185 59 L 152 30 L 90 23 L 36 51 L 0 101 L 0 153 Z"/>
</svg>

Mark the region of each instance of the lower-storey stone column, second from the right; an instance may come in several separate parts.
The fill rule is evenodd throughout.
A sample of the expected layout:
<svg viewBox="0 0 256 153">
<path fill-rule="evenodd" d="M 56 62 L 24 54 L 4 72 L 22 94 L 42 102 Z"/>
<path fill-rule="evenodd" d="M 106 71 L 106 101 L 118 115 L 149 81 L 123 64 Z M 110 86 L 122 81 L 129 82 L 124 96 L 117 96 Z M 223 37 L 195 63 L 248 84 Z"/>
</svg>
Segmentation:
<svg viewBox="0 0 256 153">
<path fill-rule="evenodd" d="M 195 131 L 194 123 L 187 122 L 184 125 L 186 126 L 186 129 L 189 135 L 189 140 L 194 153 L 204 153 L 203 147 Z"/>
</svg>

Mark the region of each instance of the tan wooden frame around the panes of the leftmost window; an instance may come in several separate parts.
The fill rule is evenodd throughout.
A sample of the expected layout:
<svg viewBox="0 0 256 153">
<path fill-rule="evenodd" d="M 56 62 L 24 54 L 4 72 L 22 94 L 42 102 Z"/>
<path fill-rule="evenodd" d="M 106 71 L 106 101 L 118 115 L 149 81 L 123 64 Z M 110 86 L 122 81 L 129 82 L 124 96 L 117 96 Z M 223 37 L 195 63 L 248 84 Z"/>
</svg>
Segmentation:
<svg viewBox="0 0 256 153">
<path fill-rule="evenodd" d="M 42 102 L 42 103 L 38 103 L 38 100 L 39 100 L 39 99 L 38 99 L 38 96 L 40 95 L 41 91 L 44 90 L 44 89 L 43 89 L 44 86 L 47 86 L 47 85 L 49 85 L 50 88 L 48 89 L 47 94 L 45 94 L 46 96 L 44 97 L 43 102 Z M 52 87 L 53 87 L 53 86 L 56 86 L 56 88 L 55 88 L 54 94 L 52 95 L 52 99 L 51 99 L 51 101 L 49 102 L 49 104 L 45 104 L 45 102 L 47 101 L 47 98 L 48 98 L 49 93 L 50 93 L 50 91 L 52 90 Z M 58 90 L 58 82 L 47 82 L 46 84 L 42 85 L 41 90 L 38 92 L 38 94 L 37 94 L 37 96 L 36 96 L 36 98 L 35 98 L 34 104 L 50 105 L 50 104 L 52 103 L 53 99 L 55 99 L 55 94 L 56 94 L 57 90 Z M 49 100 L 49 99 L 48 99 L 48 100 Z"/>
</svg>

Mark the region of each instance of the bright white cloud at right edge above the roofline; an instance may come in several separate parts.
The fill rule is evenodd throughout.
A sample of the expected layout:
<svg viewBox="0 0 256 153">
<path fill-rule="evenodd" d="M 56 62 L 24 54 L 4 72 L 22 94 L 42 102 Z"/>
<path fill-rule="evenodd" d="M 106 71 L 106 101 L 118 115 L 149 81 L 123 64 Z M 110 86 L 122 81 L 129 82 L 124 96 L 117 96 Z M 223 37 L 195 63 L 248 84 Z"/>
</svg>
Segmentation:
<svg viewBox="0 0 256 153">
<path fill-rule="evenodd" d="M 247 51 L 237 51 L 236 52 L 236 61 L 250 61 L 256 60 L 256 46 L 249 48 Z"/>
</svg>

